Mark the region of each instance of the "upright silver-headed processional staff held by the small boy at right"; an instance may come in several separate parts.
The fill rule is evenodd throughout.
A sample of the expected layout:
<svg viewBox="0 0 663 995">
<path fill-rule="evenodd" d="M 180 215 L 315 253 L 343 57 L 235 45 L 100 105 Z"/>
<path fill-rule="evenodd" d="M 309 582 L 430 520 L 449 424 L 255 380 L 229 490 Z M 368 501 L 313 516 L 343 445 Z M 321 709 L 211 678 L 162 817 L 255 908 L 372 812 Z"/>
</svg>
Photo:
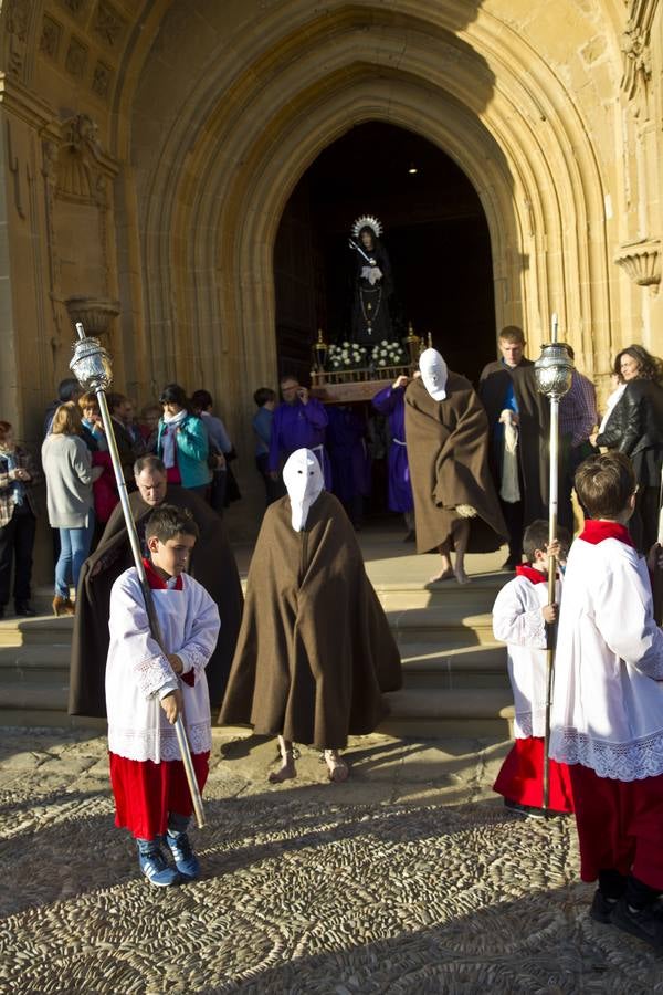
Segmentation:
<svg viewBox="0 0 663 995">
<path fill-rule="evenodd" d="M 550 400 L 550 479 L 549 479 L 549 517 L 548 545 L 557 538 L 557 502 L 559 482 L 559 400 L 570 389 L 573 375 L 573 362 L 566 344 L 557 342 L 557 314 L 552 315 L 552 341 L 541 346 L 541 355 L 534 364 L 536 384 L 541 394 Z M 555 582 L 557 576 L 557 557 L 548 556 L 548 605 L 555 604 Z M 550 761 L 550 704 L 555 673 L 555 645 L 557 641 L 557 624 L 546 625 L 546 726 L 544 734 L 544 808 L 549 808 Z"/>
</svg>

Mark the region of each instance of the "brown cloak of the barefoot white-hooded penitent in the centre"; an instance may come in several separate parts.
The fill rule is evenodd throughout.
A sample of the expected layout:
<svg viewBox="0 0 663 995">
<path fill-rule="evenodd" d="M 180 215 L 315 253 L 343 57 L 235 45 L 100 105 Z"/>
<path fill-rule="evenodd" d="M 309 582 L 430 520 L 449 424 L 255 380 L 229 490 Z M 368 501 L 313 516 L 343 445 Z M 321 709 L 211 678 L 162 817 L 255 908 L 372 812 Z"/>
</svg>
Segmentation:
<svg viewBox="0 0 663 995">
<path fill-rule="evenodd" d="M 303 532 L 291 524 L 290 498 L 270 505 L 221 724 L 341 748 L 348 735 L 375 730 L 388 711 L 381 692 L 401 683 L 397 646 L 340 502 L 323 491 Z"/>
</svg>

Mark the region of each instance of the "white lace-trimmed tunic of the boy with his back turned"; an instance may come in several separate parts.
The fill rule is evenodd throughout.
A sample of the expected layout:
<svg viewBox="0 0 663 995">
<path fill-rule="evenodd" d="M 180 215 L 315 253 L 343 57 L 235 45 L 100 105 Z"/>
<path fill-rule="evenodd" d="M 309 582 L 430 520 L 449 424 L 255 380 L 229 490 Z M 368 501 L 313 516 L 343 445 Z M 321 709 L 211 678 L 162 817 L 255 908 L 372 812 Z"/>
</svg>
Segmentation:
<svg viewBox="0 0 663 995">
<path fill-rule="evenodd" d="M 576 540 L 565 575 L 550 755 L 599 777 L 663 773 L 663 632 L 646 564 L 617 538 Z"/>
</svg>

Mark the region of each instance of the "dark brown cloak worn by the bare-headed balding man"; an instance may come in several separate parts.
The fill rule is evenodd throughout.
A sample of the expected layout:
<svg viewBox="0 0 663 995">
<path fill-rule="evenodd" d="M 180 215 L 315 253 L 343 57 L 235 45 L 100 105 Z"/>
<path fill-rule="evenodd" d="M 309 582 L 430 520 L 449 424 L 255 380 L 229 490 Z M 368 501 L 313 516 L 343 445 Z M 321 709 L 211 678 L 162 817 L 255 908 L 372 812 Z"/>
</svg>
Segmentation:
<svg viewBox="0 0 663 995">
<path fill-rule="evenodd" d="M 243 596 L 238 566 L 222 520 L 202 498 L 185 488 L 168 484 L 164 503 L 188 509 L 200 530 L 189 573 L 214 599 L 221 616 L 219 641 L 206 670 L 210 701 L 218 706 L 223 699 L 242 619 Z M 129 494 L 129 504 L 140 535 L 141 523 L 154 507 L 137 491 Z M 101 569 L 93 576 L 97 564 L 101 564 Z M 97 548 L 81 569 L 70 669 L 70 715 L 106 715 L 104 688 L 110 588 L 117 577 L 133 565 L 122 506 L 117 505 Z"/>
</svg>

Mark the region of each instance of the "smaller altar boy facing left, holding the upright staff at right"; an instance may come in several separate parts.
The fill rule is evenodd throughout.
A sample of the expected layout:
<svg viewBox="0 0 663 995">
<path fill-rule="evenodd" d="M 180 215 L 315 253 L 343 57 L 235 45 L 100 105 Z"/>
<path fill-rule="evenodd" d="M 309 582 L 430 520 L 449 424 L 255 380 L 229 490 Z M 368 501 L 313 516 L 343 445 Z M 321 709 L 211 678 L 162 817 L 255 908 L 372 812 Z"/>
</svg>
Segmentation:
<svg viewBox="0 0 663 995">
<path fill-rule="evenodd" d="M 507 755 L 493 790 L 504 795 L 504 804 L 522 815 L 544 817 L 544 735 L 546 727 L 546 625 L 557 619 L 557 604 L 548 605 L 548 557 L 566 558 L 571 536 L 559 528 L 548 544 L 548 522 L 537 519 L 525 530 L 523 552 L 527 563 L 516 567 L 493 606 L 493 631 L 507 643 L 508 678 L 514 692 L 515 743 Z M 556 601 L 559 601 L 559 580 Z M 550 761 L 550 810 L 573 810 L 569 771 Z"/>
</svg>

